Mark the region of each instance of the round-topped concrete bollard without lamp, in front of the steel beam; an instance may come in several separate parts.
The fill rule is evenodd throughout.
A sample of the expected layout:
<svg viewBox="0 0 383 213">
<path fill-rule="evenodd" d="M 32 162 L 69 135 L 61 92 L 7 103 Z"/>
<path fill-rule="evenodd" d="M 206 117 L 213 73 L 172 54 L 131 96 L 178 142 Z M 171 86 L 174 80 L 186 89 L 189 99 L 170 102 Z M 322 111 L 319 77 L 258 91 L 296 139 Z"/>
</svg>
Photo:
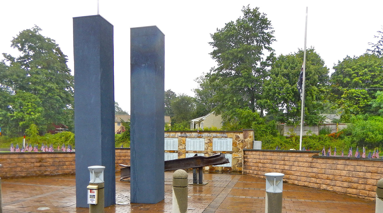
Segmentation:
<svg viewBox="0 0 383 213">
<path fill-rule="evenodd" d="M 183 169 L 173 173 L 173 213 L 188 211 L 188 174 Z"/>
</svg>

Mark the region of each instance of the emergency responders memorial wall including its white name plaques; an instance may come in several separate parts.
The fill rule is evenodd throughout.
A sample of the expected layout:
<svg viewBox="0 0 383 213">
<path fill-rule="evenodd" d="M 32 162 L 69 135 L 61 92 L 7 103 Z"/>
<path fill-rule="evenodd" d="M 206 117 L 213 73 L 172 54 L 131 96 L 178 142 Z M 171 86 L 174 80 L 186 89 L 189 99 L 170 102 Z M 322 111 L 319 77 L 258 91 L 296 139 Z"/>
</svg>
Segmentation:
<svg viewBox="0 0 383 213">
<path fill-rule="evenodd" d="M 205 171 L 242 171 L 243 149 L 252 148 L 254 130 L 243 131 L 165 131 L 165 160 L 194 155 L 211 156 L 224 153 L 229 163 L 206 166 Z"/>
</svg>

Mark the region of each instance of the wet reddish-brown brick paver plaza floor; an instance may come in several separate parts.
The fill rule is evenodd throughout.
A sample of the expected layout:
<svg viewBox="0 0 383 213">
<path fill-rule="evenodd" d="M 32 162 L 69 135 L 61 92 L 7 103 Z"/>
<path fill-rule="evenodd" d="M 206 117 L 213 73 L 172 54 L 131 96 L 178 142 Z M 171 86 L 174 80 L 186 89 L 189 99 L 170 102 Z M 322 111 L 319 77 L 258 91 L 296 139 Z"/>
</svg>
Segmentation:
<svg viewBox="0 0 383 213">
<path fill-rule="evenodd" d="M 116 203 L 105 212 L 172 212 L 172 172 L 165 172 L 165 200 L 130 203 L 130 182 L 116 174 Z M 189 183 L 192 182 L 189 173 Z M 188 186 L 188 213 L 265 212 L 265 179 L 236 174 L 204 174 L 205 186 Z M 4 213 L 87 213 L 76 208 L 75 176 L 2 179 Z M 118 205 L 125 204 L 125 205 Z M 38 210 L 48 207 L 48 210 Z M 375 201 L 283 184 L 283 213 L 375 212 Z"/>
</svg>

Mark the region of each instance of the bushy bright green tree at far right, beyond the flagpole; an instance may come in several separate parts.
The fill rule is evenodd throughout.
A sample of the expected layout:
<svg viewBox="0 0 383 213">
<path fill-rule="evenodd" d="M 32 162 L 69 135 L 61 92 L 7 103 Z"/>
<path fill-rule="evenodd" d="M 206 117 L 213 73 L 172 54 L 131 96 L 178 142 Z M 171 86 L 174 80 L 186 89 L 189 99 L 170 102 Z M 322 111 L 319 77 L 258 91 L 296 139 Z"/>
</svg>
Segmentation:
<svg viewBox="0 0 383 213">
<path fill-rule="evenodd" d="M 383 87 L 383 58 L 367 53 L 347 56 L 334 69 L 329 98 L 342 110 L 342 121 L 348 122 L 352 115 L 373 113 L 370 103 Z"/>
</svg>

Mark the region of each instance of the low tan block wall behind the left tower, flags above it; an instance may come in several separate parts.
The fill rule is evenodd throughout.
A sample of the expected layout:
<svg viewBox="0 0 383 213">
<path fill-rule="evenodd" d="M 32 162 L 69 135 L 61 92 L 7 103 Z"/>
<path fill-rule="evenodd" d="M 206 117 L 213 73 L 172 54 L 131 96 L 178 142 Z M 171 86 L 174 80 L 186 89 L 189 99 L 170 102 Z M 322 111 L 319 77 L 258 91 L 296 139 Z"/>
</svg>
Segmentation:
<svg viewBox="0 0 383 213">
<path fill-rule="evenodd" d="M 75 152 L 0 153 L 0 178 L 75 174 Z M 116 148 L 116 171 L 130 165 L 130 148 Z"/>
</svg>

